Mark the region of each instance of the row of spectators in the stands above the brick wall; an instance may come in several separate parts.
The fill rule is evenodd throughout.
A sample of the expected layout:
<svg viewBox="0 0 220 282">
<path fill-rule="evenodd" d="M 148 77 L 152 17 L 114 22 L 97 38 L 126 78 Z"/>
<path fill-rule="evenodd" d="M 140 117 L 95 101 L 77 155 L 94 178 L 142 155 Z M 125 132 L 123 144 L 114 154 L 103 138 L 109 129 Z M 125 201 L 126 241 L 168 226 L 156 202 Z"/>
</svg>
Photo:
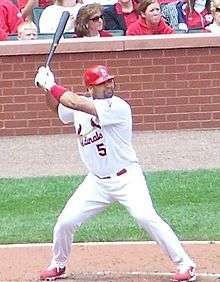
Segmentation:
<svg viewBox="0 0 220 282">
<path fill-rule="evenodd" d="M 33 9 L 41 7 L 38 22 Z M 1 0 L 0 40 L 53 34 L 63 11 L 73 37 L 220 33 L 220 0 Z M 34 23 L 35 21 L 35 23 Z"/>
</svg>

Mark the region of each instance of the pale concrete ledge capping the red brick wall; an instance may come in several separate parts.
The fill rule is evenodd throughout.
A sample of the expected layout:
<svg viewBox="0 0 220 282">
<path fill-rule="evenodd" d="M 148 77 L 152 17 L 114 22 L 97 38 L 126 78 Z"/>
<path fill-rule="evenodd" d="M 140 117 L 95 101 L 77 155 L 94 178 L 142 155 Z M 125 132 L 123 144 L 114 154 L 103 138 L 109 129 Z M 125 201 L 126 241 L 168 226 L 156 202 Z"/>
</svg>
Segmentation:
<svg viewBox="0 0 220 282">
<path fill-rule="evenodd" d="M 36 41 L 1 41 L 0 55 L 47 54 L 52 39 Z M 57 53 L 111 52 L 126 50 L 219 47 L 220 35 L 211 33 L 152 36 L 115 36 L 63 39 Z"/>
</svg>

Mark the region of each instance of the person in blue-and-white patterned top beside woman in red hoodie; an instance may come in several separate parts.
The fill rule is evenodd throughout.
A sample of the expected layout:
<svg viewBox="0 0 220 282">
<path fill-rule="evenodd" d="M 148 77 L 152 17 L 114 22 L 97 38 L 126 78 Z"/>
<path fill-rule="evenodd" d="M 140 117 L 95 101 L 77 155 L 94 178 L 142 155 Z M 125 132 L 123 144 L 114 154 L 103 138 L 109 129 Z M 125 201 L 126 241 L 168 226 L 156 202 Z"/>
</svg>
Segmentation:
<svg viewBox="0 0 220 282">
<path fill-rule="evenodd" d="M 179 29 L 178 11 L 176 7 L 178 2 L 178 0 L 159 0 L 162 16 L 173 29 Z"/>
</svg>

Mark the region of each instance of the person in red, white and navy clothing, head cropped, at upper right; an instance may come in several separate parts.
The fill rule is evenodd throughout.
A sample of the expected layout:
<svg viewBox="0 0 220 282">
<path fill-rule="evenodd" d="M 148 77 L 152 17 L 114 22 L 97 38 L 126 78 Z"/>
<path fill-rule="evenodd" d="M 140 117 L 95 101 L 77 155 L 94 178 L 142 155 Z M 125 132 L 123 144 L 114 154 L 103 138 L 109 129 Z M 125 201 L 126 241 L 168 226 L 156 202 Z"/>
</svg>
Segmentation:
<svg viewBox="0 0 220 282">
<path fill-rule="evenodd" d="M 211 0 L 187 0 L 177 4 L 179 29 L 205 29 L 213 22 Z"/>
</svg>

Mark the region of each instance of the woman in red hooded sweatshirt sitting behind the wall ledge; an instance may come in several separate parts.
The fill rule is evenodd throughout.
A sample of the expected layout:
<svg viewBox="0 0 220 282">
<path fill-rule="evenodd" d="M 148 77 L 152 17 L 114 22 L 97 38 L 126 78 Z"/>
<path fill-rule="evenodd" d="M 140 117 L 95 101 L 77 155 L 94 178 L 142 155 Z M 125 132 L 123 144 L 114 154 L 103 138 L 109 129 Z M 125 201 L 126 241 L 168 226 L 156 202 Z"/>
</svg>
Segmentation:
<svg viewBox="0 0 220 282">
<path fill-rule="evenodd" d="M 161 16 L 160 4 L 155 0 L 143 0 L 139 4 L 139 18 L 132 23 L 126 35 L 170 34 L 174 30 Z"/>
</svg>

